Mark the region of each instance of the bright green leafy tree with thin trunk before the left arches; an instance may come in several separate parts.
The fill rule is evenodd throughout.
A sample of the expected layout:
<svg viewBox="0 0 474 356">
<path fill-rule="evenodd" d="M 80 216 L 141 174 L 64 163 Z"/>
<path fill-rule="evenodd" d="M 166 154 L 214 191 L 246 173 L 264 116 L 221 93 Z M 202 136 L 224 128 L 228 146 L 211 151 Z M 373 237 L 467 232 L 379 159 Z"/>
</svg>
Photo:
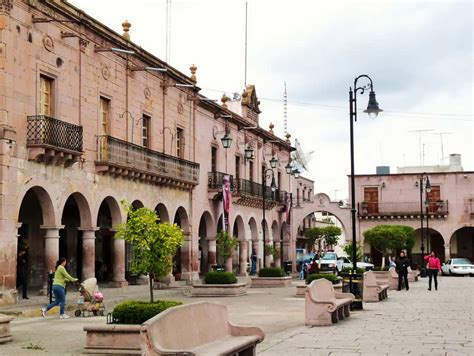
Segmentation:
<svg viewBox="0 0 474 356">
<path fill-rule="evenodd" d="M 136 274 L 148 274 L 150 302 L 153 303 L 153 277 L 168 275 L 173 266 L 172 256 L 184 241 L 183 231 L 176 224 L 159 223 L 154 210 L 134 209 L 125 200 L 121 204 L 128 219 L 118 225 L 115 238 L 124 239 L 132 246 L 134 257 L 130 269 Z"/>
</svg>

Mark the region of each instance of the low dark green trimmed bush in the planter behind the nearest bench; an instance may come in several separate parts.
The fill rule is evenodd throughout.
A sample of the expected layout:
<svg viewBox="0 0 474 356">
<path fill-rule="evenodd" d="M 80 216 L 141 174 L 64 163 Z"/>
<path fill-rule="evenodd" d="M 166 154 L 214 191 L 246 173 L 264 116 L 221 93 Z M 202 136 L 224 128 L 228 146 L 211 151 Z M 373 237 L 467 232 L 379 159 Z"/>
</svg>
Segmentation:
<svg viewBox="0 0 474 356">
<path fill-rule="evenodd" d="M 112 317 L 118 324 L 142 324 L 168 308 L 183 303 L 175 300 L 158 300 L 153 303 L 127 300 L 114 308 Z"/>
</svg>

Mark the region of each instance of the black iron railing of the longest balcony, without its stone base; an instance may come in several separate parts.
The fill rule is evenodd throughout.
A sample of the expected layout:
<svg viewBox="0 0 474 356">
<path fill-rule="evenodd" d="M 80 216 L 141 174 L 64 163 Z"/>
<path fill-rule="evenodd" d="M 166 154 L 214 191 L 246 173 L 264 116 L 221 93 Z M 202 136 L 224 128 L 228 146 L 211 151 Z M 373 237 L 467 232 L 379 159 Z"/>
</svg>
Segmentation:
<svg viewBox="0 0 474 356">
<path fill-rule="evenodd" d="M 98 136 L 98 161 L 192 184 L 199 183 L 199 163 L 153 151 L 111 136 Z"/>
</svg>

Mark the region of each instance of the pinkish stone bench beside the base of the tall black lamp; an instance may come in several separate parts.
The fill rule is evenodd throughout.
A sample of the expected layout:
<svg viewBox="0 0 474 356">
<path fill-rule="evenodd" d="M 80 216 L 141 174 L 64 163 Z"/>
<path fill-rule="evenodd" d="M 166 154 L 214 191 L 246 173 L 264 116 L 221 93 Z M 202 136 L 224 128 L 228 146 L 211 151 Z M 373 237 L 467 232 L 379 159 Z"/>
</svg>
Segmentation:
<svg viewBox="0 0 474 356">
<path fill-rule="evenodd" d="M 350 305 L 355 300 L 352 293 L 334 291 L 327 279 L 316 279 L 306 288 L 305 325 L 332 325 L 350 315 Z"/>
</svg>

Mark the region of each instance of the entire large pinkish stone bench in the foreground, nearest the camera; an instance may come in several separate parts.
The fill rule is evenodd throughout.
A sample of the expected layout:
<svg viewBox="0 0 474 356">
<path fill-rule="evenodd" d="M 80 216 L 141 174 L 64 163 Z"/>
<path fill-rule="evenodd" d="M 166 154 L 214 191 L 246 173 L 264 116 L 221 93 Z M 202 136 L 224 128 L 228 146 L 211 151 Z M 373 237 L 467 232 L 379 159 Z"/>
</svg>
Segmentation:
<svg viewBox="0 0 474 356">
<path fill-rule="evenodd" d="M 225 305 L 193 303 L 170 308 L 142 324 L 144 355 L 256 354 L 265 335 L 258 327 L 229 321 Z"/>
</svg>

